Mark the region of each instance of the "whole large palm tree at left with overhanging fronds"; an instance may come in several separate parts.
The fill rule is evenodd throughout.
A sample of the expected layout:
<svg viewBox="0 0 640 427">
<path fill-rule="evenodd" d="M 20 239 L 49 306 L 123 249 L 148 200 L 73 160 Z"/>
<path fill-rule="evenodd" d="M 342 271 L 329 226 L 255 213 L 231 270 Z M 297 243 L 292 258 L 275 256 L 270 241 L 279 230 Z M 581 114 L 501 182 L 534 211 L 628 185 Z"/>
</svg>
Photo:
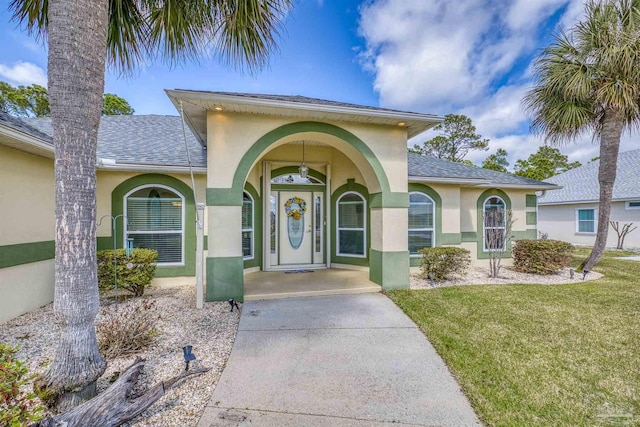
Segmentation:
<svg viewBox="0 0 640 427">
<path fill-rule="evenodd" d="M 58 409 L 95 394 L 98 352 L 96 145 L 105 64 L 169 63 L 213 52 L 250 70 L 265 64 L 291 0 L 12 0 L 14 19 L 48 40 L 55 147 L 55 293 L 61 325 L 39 387 Z"/>
</svg>

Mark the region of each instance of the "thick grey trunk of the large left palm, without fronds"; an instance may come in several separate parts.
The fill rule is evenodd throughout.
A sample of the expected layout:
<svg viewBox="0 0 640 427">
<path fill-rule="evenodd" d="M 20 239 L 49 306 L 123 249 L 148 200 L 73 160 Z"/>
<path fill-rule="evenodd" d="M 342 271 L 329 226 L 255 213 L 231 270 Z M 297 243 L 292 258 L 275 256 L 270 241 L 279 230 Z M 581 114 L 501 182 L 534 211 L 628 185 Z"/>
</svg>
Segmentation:
<svg viewBox="0 0 640 427">
<path fill-rule="evenodd" d="M 37 388 L 64 411 L 95 395 L 106 362 L 94 320 L 96 145 L 104 92 L 108 2 L 49 1 L 49 99 L 55 148 L 55 293 L 60 339 Z M 90 37 L 88 35 L 91 35 Z"/>
</svg>

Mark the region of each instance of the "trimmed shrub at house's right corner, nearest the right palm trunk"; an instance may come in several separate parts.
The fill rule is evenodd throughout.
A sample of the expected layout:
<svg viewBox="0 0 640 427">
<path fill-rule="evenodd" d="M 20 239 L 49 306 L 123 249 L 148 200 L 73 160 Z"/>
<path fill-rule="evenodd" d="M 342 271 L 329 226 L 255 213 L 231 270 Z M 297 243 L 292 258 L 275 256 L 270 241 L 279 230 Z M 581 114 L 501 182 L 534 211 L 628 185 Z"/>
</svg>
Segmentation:
<svg viewBox="0 0 640 427">
<path fill-rule="evenodd" d="M 573 246 L 560 240 L 518 240 L 512 250 L 513 268 L 522 273 L 556 274 L 569 264 Z"/>
</svg>

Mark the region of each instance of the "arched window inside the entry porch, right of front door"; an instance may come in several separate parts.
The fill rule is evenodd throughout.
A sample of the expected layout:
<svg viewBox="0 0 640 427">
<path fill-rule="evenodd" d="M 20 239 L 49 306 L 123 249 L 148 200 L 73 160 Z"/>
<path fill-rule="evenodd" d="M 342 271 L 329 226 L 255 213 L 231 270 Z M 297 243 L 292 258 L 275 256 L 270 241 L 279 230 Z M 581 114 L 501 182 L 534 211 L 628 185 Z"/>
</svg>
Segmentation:
<svg viewBox="0 0 640 427">
<path fill-rule="evenodd" d="M 345 193 L 338 199 L 338 255 L 366 256 L 366 202 L 358 193 Z"/>
</svg>

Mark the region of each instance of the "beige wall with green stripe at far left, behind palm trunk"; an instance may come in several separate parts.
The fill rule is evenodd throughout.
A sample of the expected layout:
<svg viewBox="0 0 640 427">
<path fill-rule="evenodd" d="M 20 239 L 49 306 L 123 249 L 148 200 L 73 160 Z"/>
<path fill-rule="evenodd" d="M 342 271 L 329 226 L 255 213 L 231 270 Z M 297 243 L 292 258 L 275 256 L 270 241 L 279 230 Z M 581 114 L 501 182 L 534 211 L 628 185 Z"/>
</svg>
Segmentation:
<svg viewBox="0 0 640 427">
<path fill-rule="evenodd" d="M 0 145 L 0 323 L 53 300 L 53 161 Z"/>
</svg>

